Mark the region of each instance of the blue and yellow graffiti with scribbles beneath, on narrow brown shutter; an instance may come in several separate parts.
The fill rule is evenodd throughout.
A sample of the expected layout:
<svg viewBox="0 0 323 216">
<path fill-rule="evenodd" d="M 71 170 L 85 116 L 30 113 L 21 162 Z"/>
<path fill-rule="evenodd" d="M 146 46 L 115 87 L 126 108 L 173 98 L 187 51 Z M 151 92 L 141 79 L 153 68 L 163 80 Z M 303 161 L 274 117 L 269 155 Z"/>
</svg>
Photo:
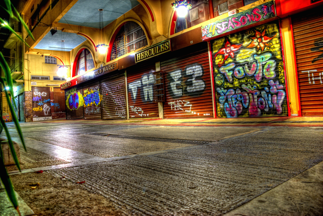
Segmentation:
<svg viewBox="0 0 323 216">
<path fill-rule="evenodd" d="M 101 113 L 98 105 L 101 103 L 101 95 L 99 87 L 91 87 L 83 91 L 84 113 L 87 115 Z"/>
</svg>

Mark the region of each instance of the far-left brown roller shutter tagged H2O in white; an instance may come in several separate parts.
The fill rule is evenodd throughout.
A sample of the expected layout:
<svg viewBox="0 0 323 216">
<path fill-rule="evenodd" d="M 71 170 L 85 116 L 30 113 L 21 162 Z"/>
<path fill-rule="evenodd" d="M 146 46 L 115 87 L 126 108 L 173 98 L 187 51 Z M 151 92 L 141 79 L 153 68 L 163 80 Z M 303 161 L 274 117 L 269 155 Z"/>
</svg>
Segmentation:
<svg viewBox="0 0 323 216">
<path fill-rule="evenodd" d="M 49 87 L 32 86 L 31 93 L 33 95 L 33 117 L 52 116 Z"/>
</svg>

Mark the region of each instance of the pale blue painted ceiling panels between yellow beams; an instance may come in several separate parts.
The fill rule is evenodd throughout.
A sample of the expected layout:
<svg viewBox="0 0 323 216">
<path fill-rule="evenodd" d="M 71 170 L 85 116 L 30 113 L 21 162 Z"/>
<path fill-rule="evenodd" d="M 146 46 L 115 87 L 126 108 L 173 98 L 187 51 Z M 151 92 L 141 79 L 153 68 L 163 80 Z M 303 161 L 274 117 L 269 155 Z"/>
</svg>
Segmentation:
<svg viewBox="0 0 323 216">
<path fill-rule="evenodd" d="M 58 22 L 99 28 L 99 9 L 103 9 L 103 24 L 125 14 L 140 3 L 137 0 L 78 0 Z M 53 36 L 48 32 L 35 49 L 61 51 L 61 40 L 65 40 L 65 51 L 70 51 L 87 40 L 81 35 L 57 31 Z"/>
</svg>

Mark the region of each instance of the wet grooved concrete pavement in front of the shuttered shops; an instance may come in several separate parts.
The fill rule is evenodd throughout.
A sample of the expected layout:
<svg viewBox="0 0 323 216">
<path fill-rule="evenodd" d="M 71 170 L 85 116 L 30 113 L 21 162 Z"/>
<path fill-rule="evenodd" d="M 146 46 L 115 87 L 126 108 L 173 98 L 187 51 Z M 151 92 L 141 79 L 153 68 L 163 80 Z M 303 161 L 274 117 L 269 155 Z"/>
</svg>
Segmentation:
<svg viewBox="0 0 323 216">
<path fill-rule="evenodd" d="M 29 148 L 22 154 L 26 169 L 24 174 L 15 174 L 13 168 L 10 172 L 17 188 L 28 178 L 43 181 L 46 186 L 33 191 L 38 196 L 44 190 L 59 192 L 58 180 L 64 177 L 70 187 L 83 190 L 78 197 L 97 194 L 111 202 L 111 211 L 77 206 L 72 213 L 58 202 L 62 212 L 57 215 L 321 215 L 321 120 L 22 123 Z M 11 134 L 16 137 L 14 129 Z M 34 174 L 38 170 L 44 170 L 44 175 Z M 52 187 L 48 179 L 58 186 Z M 81 180 L 86 183 L 75 184 Z M 44 202 L 26 188 L 18 190 L 36 214 L 58 211 L 57 203 L 47 211 L 38 208 L 35 203 Z M 68 203 L 64 199 L 61 202 Z M 89 205 L 93 203 L 87 201 L 85 206 Z"/>
</svg>

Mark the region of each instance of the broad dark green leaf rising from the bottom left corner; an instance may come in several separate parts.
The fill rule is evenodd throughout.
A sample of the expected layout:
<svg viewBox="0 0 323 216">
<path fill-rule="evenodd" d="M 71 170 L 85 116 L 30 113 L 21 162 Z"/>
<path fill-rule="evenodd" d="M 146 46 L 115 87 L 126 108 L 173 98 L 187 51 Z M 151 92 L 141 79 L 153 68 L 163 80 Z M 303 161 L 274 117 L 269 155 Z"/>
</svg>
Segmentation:
<svg viewBox="0 0 323 216">
<path fill-rule="evenodd" d="M 2 118 L 2 116 L 1 116 L 1 118 Z M 1 151 L 1 154 L 0 154 L 0 179 L 1 179 L 1 182 L 5 186 L 5 191 L 8 195 L 9 200 L 11 201 L 11 203 L 13 204 L 13 206 L 15 207 L 15 209 L 18 211 L 18 213 L 20 215 L 18 201 L 16 198 L 14 187 L 12 185 L 10 178 L 9 178 L 8 172 L 5 169 L 5 163 L 3 161 L 3 156 L 2 156 L 3 154 L 2 153 L 3 152 Z"/>
</svg>

